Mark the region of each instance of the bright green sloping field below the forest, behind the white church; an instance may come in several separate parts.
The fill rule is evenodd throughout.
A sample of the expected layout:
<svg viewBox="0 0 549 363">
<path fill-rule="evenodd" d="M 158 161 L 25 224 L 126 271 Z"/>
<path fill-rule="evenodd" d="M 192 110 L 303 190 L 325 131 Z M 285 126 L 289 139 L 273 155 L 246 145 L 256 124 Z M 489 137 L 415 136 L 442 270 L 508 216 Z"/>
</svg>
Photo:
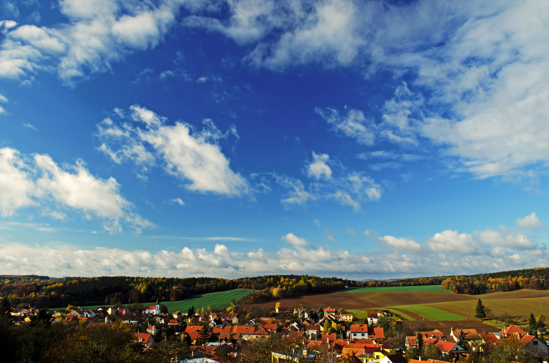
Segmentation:
<svg viewBox="0 0 549 363">
<path fill-rule="evenodd" d="M 231 304 L 232 299 L 238 300 L 244 295 L 249 294 L 250 292 L 257 292 L 257 291 L 259 290 L 237 288 L 236 290 L 210 292 L 208 294 L 194 295 L 192 298 L 185 299 L 185 300 L 163 301 L 162 304 L 168 307 L 168 311 L 170 313 L 173 313 L 174 311 L 177 311 L 177 310 L 181 311 L 182 313 L 187 313 L 187 310 L 189 310 L 189 308 L 192 307 L 193 305 L 195 310 L 202 307 L 207 308 L 208 305 L 211 305 L 211 307 L 214 309 L 225 309 Z M 148 307 L 152 304 L 154 304 L 154 302 L 143 303 L 145 307 Z M 81 308 L 93 310 L 93 309 L 102 307 L 104 305 L 105 304 L 89 305 Z M 65 310 L 65 309 L 66 308 L 56 308 L 54 310 Z"/>
</svg>

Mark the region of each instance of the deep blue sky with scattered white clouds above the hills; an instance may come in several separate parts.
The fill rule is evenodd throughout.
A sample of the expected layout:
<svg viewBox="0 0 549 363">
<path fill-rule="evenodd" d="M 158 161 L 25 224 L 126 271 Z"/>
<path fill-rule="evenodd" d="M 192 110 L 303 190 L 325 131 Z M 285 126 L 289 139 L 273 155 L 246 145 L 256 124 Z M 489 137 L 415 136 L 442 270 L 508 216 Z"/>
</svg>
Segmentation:
<svg viewBox="0 0 549 363">
<path fill-rule="evenodd" d="M 3 273 L 547 265 L 546 2 L 1 6 Z"/>
</svg>

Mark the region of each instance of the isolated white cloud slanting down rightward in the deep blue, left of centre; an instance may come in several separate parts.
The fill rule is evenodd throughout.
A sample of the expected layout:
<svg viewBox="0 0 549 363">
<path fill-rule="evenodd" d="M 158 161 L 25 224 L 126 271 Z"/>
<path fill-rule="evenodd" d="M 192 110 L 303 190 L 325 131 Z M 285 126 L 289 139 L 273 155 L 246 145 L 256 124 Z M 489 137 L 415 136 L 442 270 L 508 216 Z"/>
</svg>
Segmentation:
<svg viewBox="0 0 549 363">
<path fill-rule="evenodd" d="M 138 105 L 130 107 L 129 117 L 139 126 L 111 118 L 97 126 L 104 141 L 98 149 L 114 162 L 132 161 L 145 172 L 160 162 L 173 177 L 188 181 L 189 190 L 225 196 L 250 194 L 248 181 L 231 169 L 219 145 L 219 140 L 231 134 L 238 138 L 234 126 L 221 133 L 209 119 L 203 120 L 201 131 L 182 121 L 170 125 L 165 117 Z"/>
</svg>

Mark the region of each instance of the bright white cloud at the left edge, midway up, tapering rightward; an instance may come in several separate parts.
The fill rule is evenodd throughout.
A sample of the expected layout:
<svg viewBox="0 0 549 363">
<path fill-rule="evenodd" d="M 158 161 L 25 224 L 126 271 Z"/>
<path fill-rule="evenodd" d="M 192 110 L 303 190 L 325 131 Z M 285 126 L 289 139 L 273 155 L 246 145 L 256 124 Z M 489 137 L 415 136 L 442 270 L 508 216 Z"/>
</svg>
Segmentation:
<svg viewBox="0 0 549 363">
<path fill-rule="evenodd" d="M 103 226 L 110 232 L 121 231 L 122 224 L 137 232 L 155 226 L 132 212 L 132 203 L 121 195 L 114 178 L 92 175 L 81 160 L 61 168 L 47 154 L 29 157 L 15 149 L 0 149 L 2 217 L 29 206 L 38 206 L 44 215 L 57 219 L 65 215 L 63 209 L 82 212 L 87 218 L 95 216 L 104 220 Z"/>
</svg>

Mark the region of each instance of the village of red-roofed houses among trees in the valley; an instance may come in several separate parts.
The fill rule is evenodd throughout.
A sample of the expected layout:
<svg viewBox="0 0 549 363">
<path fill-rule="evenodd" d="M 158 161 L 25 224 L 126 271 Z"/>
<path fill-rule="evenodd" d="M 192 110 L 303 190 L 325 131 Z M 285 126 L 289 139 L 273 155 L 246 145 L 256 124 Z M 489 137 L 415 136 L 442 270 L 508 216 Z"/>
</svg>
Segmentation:
<svg viewBox="0 0 549 363">
<path fill-rule="evenodd" d="M 135 304 L 69 308 L 49 315 L 51 324 L 128 324 L 135 327 L 133 341 L 142 345 L 142 354 L 162 341 L 184 344 L 185 356 L 177 360 L 181 363 L 248 361 L 262 344 L 272 363 L 474 362 L 509 339 L 539 361 L 546 362 L 548 354 L 544 339 L 513 324 L 491 332 L 460 329 L 458 322 L 450 332 L 411 331 L 386 309 L 369 311 L 367 318 L 358 320 L 343 309 L 288 308 L 280 303 L 275 309 L 254 306 L 249 312 L 231 304 L 225 311 L 192 307 L 184 313 L 167 313 L 158 300 L 139 308 Z M 10 314 L 15 325 L 24 325 L 39 313 L 29 307 L 12 309 Z"/>
</svg>

